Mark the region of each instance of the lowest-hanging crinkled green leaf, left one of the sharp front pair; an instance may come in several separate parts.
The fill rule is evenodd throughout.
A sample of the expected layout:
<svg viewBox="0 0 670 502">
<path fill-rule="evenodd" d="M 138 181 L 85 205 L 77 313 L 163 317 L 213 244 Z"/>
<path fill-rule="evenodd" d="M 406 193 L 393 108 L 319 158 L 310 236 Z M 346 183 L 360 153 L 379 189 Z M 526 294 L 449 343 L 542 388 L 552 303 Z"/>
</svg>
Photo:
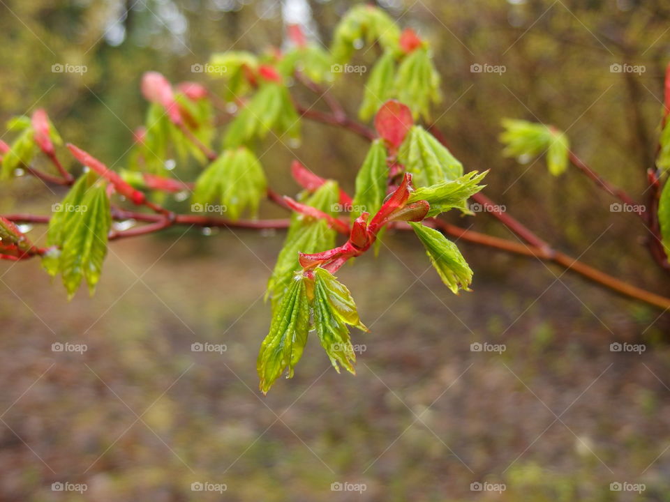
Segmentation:
<svg viewBox="0 0 670 502">
<path fill-rule="evenodd" d="M 295 275 L 281 305 L 272 316 L 270 331 L 258 353 L 256 368 L 264 394 L 288 367 L 287 378 L 302 356 L 309 330 L 309 304 L 305 277 Z"/>
</svg>

